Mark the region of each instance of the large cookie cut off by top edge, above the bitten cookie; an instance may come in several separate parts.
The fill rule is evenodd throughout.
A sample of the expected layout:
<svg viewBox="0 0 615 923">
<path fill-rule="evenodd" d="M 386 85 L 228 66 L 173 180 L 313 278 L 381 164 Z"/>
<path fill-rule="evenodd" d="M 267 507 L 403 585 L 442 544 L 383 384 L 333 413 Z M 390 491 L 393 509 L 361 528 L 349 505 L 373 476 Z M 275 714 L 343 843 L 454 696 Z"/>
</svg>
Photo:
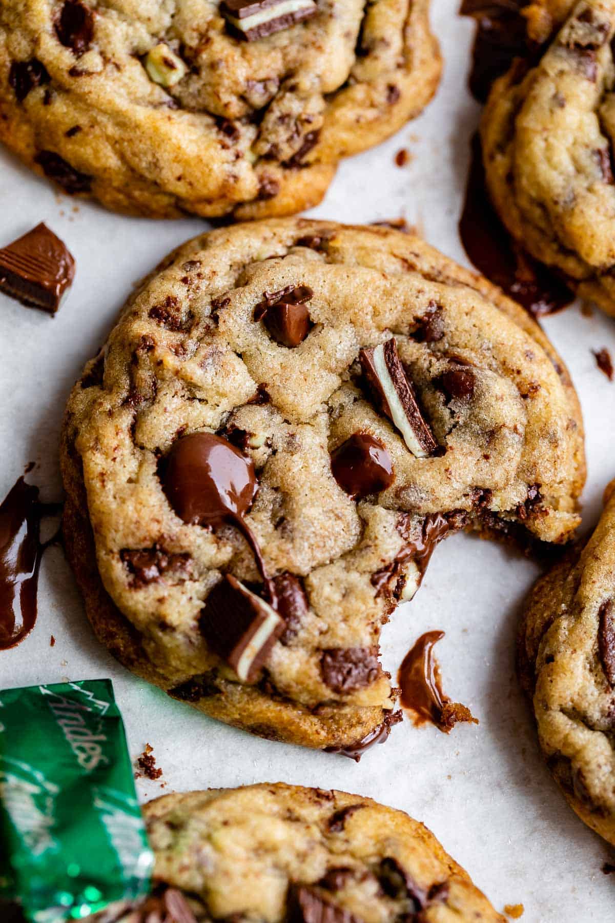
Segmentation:
<svg viewBox="0 0 615 923">
<path fill-rule="evenodd" d="M 110 209 L 292 214 L 418 115 L 440 71 L 429 0 L 13 0 L 0 139 Z"/>
</svg>

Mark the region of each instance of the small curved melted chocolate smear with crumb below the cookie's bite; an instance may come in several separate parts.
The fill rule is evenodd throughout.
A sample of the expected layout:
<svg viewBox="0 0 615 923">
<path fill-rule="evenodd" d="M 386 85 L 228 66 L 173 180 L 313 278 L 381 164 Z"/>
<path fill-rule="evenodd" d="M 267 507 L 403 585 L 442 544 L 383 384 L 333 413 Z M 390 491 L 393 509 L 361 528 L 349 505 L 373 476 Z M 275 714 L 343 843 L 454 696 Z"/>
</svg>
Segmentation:
<svg viewBox="0 0 615 923">
<path fill-rule="evenodd" d="M 444 631 L 427 631 L 406 654 L 399 667 L 397 682 L 401 689 L 400 701 L 413 715 L 414 725 L 430 722 L 445 734 L 457 722 L 479 722 L 470 710 L 451 701 L 442 690 L 440 666 L 433 654 L 433 645 L 444 638 Z"/>
</svg>

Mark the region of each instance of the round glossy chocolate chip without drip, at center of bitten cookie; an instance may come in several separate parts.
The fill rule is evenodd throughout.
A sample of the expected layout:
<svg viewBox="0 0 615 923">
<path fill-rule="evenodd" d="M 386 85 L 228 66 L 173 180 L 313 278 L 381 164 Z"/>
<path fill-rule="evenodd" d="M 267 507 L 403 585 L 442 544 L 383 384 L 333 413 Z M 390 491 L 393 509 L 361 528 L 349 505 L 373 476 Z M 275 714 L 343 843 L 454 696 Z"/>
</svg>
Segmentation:
<svg viewBox="0 0 615 923">
<path fill-rule="evenodd" d="M 354 433 L 331 453 L 331 471 L 353 499 L 379 494 L 395 480 L 391 456 L 368 433 Z"/>
</svg>

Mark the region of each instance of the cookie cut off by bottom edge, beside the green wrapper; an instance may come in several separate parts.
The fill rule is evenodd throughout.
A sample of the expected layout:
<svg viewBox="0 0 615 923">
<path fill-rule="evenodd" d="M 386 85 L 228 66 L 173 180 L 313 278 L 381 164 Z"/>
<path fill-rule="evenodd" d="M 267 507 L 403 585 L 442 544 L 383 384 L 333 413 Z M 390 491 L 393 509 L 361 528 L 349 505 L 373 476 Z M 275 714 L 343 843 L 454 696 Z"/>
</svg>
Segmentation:
<svg viewBox="0 0 615 923">
<path fill-rule="evenodd" d="M 105 923 L 504 919 L 427 827 L 371 798 L 278 783 L 167 795 L 143 812 L 154 893 Z"/>
</svg>

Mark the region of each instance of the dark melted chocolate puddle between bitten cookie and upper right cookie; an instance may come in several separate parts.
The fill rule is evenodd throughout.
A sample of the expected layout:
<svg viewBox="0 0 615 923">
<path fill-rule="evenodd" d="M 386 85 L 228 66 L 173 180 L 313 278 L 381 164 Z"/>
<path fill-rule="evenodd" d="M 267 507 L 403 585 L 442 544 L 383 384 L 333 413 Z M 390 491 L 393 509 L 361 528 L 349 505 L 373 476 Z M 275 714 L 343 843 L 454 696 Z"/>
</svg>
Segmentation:
<svg viewBox="0 0 615 923">
<path fill-rule="evenodd" d="M 566 283 L 515 244 L 504 228 L 485 186 L 478 134 L 472 138 L 459 236 L 467 257 L 477 270 L 535 318 L 560 311 L 574 301 L 574 293 Z"/>
</svg>

